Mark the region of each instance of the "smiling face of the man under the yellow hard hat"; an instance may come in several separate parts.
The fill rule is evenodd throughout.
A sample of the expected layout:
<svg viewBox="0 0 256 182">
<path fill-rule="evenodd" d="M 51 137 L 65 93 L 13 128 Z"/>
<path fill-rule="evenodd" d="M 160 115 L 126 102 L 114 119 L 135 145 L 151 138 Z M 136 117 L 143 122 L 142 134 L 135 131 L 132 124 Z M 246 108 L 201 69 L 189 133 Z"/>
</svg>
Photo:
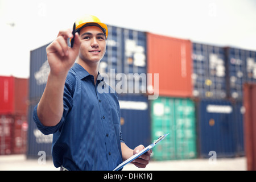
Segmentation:
<svg viewBox="0 0 256 182">
<path fill-rule="evenodd" d="M 100 61 L 106 52 L 106 38 L 101 28 L 96 26 L 82 28 L 80 39 L 80 59 L 94 63 Z"/>
</svg>

